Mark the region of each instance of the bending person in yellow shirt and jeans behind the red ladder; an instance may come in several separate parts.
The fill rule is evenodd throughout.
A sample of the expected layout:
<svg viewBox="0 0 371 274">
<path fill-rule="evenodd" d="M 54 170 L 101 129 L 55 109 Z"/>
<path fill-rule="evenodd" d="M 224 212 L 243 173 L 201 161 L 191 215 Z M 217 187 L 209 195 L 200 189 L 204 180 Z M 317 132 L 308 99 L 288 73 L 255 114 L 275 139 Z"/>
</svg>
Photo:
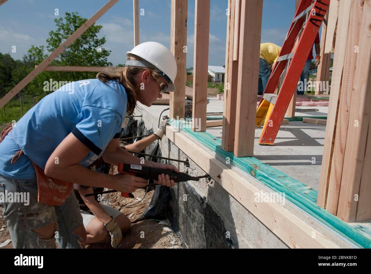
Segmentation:
<svg viewBox="0 0 371 274">
<path fill-rule="evenodd" d="M 258 95 L 263 95 L 270 76 L 270 66 L 277 61 L 281 47 L 273 43 L 260 44 Z"/>
</svg>

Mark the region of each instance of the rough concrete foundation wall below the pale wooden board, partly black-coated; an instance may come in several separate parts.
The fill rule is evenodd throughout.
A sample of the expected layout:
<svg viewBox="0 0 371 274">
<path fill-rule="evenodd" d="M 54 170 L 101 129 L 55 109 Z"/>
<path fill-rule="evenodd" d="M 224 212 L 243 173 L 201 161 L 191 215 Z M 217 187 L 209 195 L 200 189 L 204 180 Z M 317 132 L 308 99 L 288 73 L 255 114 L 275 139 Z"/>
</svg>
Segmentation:
<svg viewBox="0 0 371 274">
<path fill-rule="evenodd" d="M 140 114 L 147 128 L 157 128 L 158 115 L 156 117 L 145 110 L 135 115 Z M 165 157 L 187 159 L 187 155 L 166 136 L 161 140 L 161 151 Z M 172 164 L 191 176 L 205 175 L 200 167 L 189 161 L 190 167 L 178 162 Z M 171 188 L 169 216 L 190 248 L 287 248 L 212 179 L 183 182 Z"/>
</svg>

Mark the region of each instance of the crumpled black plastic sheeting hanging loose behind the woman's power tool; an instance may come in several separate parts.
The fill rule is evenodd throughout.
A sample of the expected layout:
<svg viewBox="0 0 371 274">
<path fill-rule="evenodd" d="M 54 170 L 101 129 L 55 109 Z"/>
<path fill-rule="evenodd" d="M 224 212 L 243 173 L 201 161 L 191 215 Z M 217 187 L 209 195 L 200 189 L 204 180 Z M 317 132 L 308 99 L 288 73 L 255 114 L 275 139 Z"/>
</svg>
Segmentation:
<svg viewBox="0 0 371 274">
<path fill-rule="evenodd" d="M 121 131 L 120 138 L 128 138 L 128 137 L 141 136 L 141 135 L 147 135 L 147 134 L 153 134 L 153 130 L 152 129 L 148 130 L 145 127 L 143 120 L 138 121 L 138 120 L 134 120 L 133 118 L 130 118 L 128 121 L 128 124 Z M 134 141 L 141 140 L 142 138 L 145 138 L 145 137 L 133 138 L 133 139 L 125 140 L 125 142 L 127 142 L 128 144 L 132 144 L 134 143 Z M 146 154 L 156 155 L 156 156 L 162 156 L 158 141 L 153 142 L 150 146 L 146 147 L 146 149 L 141 152 L 146 153 Z M 141 157 L 140 155 L 138 156 Z M 144 156 L 144 159 L 155 162 L 155 163 L 166 163 L 166 160 L 164 159 L 154 158 L 151 156 Z M 153 182 L 150 182 L 150 183 L 153 183 Z M 156 186 L 150 205 L 143 212 L 143 214 L 139 216 L 139 218 L 136 219 L 133 223 L 143 221 L 145 219 L 157 219 L 157 220 L 166 219 L 166 209 L 168 207 L 169 200 L 170 200 L 169 187 L 162 186 L 162 185 Z"/>
</svg>

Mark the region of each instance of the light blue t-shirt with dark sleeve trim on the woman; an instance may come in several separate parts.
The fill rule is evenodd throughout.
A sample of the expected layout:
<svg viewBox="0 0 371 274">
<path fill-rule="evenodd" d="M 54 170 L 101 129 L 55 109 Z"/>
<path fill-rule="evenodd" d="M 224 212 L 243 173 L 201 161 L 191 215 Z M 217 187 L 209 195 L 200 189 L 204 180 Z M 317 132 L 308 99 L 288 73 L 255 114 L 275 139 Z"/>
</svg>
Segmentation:
<svg viewBox="0 0 371 274">
<path fill-rule="evenodd" d="M 71 132 L 91 150 L 79 162 L 89 166 L 112 138 L 119 137 L 127 102 L 125 88 L 113 80 L 64 85 L 27 111 L 0 143 L 0 174 L 12 179 L 36 178 L 29 158 L 45 169 L 50 155 Z M 10 163 L 20 149 L 24 155 Z"/>
</svg>

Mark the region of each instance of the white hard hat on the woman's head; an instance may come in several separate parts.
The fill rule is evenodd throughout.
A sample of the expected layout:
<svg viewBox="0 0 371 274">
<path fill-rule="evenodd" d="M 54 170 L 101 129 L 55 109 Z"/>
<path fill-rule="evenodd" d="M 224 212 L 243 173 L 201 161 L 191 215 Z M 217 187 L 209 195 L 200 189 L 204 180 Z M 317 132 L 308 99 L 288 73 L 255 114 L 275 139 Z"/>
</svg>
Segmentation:
<svg viewBox="0 0 371 274">
<path fill-rule="evenodd" d="M 125 65 L 129 66 L 145 66 L 150 68 L 157 68 L 160 70 L 168 80 L 168 91 L 175 91 L 174 80 L 177 76 L 177 62 L 175 61 L 173 53 L 161 43 L 145 42 L 134 47 L 129 53 L 142 58 L 144 61 L 127 60 Z"/>
</svg>

